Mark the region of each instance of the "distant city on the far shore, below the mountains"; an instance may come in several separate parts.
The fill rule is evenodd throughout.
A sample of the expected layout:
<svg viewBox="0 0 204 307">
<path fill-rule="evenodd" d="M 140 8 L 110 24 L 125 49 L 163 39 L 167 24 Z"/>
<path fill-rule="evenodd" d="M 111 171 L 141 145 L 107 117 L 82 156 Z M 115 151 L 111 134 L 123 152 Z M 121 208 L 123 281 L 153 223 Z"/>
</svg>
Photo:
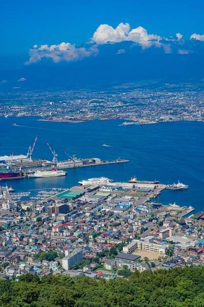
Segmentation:
<svg viewBox="0 0 204 307">
<path fill-rule="evenodd" d="M 124 119 L 143 124 L 203 121 L 203 90 L 168 91 L 112 89 L 110 91 L 1 92 L 0 115 L 40 116 L 46 121 L 84 122 Z"/>
</svg>

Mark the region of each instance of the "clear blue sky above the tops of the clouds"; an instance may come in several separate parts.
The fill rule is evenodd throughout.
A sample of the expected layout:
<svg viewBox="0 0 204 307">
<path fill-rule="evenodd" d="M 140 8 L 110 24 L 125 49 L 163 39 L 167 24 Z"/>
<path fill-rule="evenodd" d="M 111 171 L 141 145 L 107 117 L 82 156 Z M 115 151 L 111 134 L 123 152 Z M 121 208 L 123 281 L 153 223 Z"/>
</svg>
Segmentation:
<svg viewBox="0 0 204 307">
<path fill-rule="evenodd" d="M 2 0 L 0 55 L 33 45 L 87 42 L 100 24 L 128 23 L 161 37 L 204 34 L 203 0 Z"/>
</svg>

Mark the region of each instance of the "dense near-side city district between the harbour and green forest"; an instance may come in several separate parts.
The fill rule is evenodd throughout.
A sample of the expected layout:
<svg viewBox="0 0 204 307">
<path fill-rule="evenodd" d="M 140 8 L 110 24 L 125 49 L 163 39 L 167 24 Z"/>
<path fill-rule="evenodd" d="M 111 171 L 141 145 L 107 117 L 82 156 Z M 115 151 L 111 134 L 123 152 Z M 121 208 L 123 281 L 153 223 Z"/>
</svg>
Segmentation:
<svg viewBox="0 0 204 307">
<path fill-rule="evenodd" d="M 165 188 L 110 180 L 67 190 L 42 188 L 31 197 L 30 191 L 1 187 L 1 278 L 31 273 L 109 280 L 135 270 L 200 266 L 204 212 L 159 204 Z"/>
</svg>

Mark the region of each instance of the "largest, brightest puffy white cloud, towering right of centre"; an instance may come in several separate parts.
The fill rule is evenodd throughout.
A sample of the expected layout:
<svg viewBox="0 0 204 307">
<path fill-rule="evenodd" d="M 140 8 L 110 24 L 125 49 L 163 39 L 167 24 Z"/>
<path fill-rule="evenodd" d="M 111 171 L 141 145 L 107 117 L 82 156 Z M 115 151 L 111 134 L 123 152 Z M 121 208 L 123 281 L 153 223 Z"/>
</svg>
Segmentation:
<svg viewBox="0 0 204 307">
<path fill-rule="evenodd" d="M 148 34 L 147 30 L 142 26 L 130 30 L 130 25 L 123 23 L 120 23 L 115 29 L 113 26 L 100 25 L 91 38 L 92 42 L 95 42 L 97 45 L 103 45 L 107 42 L 119 43 L 133 41 L 139 44 L 142 49 L 149 48 L 153 45 L 160 47 L 161 43 L 159 41 L 161 39 L 162 37 L 159 35 Z"/>
</svg>

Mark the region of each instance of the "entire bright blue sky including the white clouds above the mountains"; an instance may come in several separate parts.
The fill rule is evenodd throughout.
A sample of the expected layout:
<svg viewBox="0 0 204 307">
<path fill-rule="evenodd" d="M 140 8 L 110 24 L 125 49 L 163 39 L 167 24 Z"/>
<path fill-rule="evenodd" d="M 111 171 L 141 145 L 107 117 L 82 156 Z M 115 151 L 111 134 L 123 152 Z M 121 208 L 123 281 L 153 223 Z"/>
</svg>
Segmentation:
<svg viewBox="0 0 204 307">
<path fill-rule="evenodd" d="M 44 55 L 58 62 L 63 51 L 64 60 L 71 61 L 97 54 L 97 46 L 108 41 L 133 41 L 142 50 L 165 45 L 164 52 L 169 53 L 167 40 L 173 45 L 190 38 L 204 41 L 203 11 L 204 2 L 198 0 L 193 5 L 190 0 L 4 1 L 0 56 L 25 55 L 31 49 L 29 63 Z M 163 40 L 165 44 L 161 46 Z M 178 53 L 194 52 L 188 49 L 178 47 Z M 50 51 L 56 52 L 53 55 Z"/>
</svg>

